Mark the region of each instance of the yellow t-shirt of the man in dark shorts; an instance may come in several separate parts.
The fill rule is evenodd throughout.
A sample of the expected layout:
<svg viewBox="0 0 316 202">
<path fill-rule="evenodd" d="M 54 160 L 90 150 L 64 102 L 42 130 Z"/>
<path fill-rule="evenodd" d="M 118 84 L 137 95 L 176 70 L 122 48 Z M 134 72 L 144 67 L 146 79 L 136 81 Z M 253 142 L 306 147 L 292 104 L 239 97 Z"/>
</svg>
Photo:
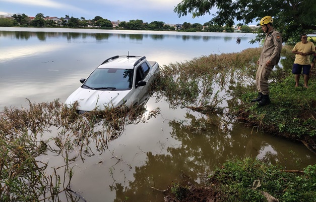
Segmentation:
<svg viewBox="0 0 316 202">
<path fill-rule="evenodd" d="M 307 43 L 302 43 L 301 41 L 296 43 L 292 51 L 308 53 L 311 51 L 315 51 L 315 46 L 311 41 L 307 41 Z M 299 54 L 295 55 L 294 64 L 299 65 L 310 65 L 309 56 L 301 56 Z"/>
</svg>

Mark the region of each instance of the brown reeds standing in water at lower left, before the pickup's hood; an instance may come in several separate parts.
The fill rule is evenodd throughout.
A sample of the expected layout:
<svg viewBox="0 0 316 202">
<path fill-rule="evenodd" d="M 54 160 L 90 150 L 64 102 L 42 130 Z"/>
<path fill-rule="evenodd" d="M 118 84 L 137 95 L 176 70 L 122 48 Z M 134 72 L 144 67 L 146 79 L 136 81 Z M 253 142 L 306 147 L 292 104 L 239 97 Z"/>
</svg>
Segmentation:
<svg viewBox="0 0 316 202">
<path fill-rule="evenodd" d="M 79 115 L 77 105 L 69 109 L 59 100 L 39 104 L 29 100 L 28 108 L 5 108 L 0 113 L 0 201 L 60 201 L 61 193 L 79 200 L 71 190 L 72 163 L 95 151 L 102 153 L 127 124 L 146 119 L 144 106 Z M 159 113 L 155 109 L 147 118 Z M 48 172 L 41 158 L 47 153 L 63 158 L 64 165 Z"/>
</svg>

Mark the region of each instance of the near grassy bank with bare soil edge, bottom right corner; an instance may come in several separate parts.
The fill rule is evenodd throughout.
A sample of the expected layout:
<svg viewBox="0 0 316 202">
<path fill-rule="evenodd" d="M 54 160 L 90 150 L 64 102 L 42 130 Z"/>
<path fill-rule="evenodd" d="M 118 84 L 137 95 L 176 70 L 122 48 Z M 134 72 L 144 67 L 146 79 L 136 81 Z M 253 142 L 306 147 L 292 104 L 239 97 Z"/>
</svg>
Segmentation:
<svg viewBox="0 0 316 202">
<path fill-rule="evenodd" d="M 284 171 L 256 159 L 234 159 L 217 168 L 203 186 L 173 184 L 165 201 L 315 201 L 315 173 L 316 165 Z"/>
</svg>

